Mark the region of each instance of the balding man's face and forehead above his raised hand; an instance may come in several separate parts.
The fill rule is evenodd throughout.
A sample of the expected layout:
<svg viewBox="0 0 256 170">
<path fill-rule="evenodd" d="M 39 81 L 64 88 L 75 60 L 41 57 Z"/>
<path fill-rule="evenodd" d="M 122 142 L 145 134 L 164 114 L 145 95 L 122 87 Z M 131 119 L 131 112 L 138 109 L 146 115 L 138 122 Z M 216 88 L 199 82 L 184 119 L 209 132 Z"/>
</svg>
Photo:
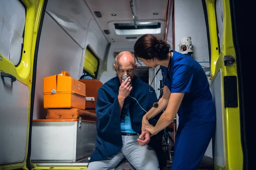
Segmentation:
<svg viewBox="0 0 256 170">
<path fill-rule="evenodd" d="M 131 79 L 134 77 L 134 72 L 137 68 L 137 63 L 135 64 L 134 57 L 131 55 L 123 54 L 116 60 L 116 64 L 114 65 L 115 71 L 118 75 L 120 84 L 122 83 L 121 77 L 125 74 L 128 74 Z"/>
</svg>

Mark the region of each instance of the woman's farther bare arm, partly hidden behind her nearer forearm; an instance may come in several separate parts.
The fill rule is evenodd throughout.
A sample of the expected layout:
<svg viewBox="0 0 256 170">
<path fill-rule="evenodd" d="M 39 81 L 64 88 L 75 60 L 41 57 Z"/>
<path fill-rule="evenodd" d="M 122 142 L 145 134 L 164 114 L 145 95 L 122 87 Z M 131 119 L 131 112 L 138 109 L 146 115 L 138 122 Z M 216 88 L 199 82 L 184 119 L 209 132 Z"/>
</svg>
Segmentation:
<svg viewBox="0 0 256 170">
<path fill-rule="evenodd" d="M 146 119 L 146 120 L 152 119 L 155 116 L 157 116 L 157 114 L 159 114 L 160 112 L 165 110 L 167 105 L 168 105 L 168 101 L 169 101 L 170 95 L 171 95 L 171 92 L 170 92 L 169 88 L 167 86 L 165 86 L 163 88 L 163 96 L 161 97 L 161 99 L 158 102 L 158 107 L 157 108 L 152 107 L 148 111 L 148 113 L 146 113 L 143 116 L 143 119 Z"/>
</svg>

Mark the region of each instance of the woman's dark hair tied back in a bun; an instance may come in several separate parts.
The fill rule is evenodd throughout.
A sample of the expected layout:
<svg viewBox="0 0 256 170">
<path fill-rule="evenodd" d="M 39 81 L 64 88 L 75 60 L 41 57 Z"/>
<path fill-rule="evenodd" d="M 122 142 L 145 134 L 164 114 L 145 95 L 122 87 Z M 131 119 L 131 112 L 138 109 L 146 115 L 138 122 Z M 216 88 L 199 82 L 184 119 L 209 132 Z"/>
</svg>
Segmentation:
<svg viewBox="0 0 256 170">
<path fill-rule="evenodd" d="M 160 37 L 152 34 L 145 34 L 140 37 L 134 44 L 134 56 L 143 59 L 157 58 L 164 60 L 168 58 L 171 46 L 163 41 Z"/>
</svg>

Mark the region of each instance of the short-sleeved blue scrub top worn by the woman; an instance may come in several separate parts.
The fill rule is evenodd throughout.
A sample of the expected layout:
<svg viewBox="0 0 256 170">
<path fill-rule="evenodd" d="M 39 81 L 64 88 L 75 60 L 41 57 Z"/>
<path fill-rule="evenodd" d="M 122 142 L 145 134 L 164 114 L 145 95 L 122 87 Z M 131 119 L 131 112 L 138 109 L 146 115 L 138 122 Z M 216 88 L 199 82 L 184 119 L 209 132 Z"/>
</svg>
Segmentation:
<svg viewBox="0 0 256 170">
<path fill-rule="evenodd" d="M 190 55 L 172 51 L 166 86 L 171 93 L 185 93 L 178 110 L 179 126 L 186 122 L 215 122 L 215 105 L 202 66 Z M 167 68 L 163 68 L 162 76 Z"/>
</svg>

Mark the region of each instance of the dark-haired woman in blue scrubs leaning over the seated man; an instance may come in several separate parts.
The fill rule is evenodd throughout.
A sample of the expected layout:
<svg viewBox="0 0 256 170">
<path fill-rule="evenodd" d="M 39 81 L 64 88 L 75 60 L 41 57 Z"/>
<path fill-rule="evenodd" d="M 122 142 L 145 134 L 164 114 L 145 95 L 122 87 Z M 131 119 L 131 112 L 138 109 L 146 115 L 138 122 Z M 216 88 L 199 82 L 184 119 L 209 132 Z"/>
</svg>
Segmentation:
<svg viewBox="0 0 256 170">
<path fill-rule="evenodd" d="M 170 51 L 169 44 L 151 34 L 137 40 L 134 54 L 151 68 L 160 65 L 164 84 L 163 96 L 143 117 L 142 130 L 155 135 L 178 114 L 172 170 L 196 170 L 215 134 L 216 121 L 215 105 L 203 68 L 190 55 Z M 162 112 L 155 126 L 148 123 Z"/>
</svg>

